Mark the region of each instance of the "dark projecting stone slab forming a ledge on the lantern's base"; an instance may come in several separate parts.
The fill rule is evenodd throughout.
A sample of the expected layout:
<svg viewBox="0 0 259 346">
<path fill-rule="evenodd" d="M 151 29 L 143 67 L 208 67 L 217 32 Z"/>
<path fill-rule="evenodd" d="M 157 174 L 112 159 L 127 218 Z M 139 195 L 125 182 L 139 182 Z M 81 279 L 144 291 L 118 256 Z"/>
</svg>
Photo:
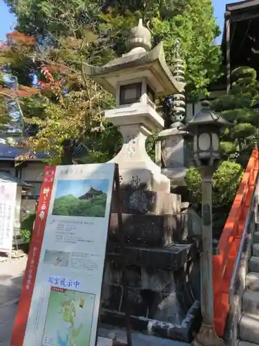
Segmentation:
<svg viewBox="0 0 259 346">
<path fill-rule="evenodd" d="M 162 269 L 164 271 L 178 271 L 189 262 L 198 252 L 198 244 L 170 244 L 163 248 L 148 248 L 144 246 L 125 246 L 127 265 L 141 264 L 142 267 Z M 120 262 L 120 246 L 108 243 L 108 259 Z"/>
</svg>

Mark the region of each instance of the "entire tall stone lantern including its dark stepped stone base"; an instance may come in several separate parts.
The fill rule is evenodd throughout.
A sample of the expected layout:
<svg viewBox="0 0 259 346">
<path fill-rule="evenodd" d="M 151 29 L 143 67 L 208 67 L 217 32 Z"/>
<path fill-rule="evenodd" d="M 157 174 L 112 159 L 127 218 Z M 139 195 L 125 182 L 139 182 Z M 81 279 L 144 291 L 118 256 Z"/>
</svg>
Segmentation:
<svg viewBox="0 0 259 346">
<path fill-rule="evenodd" d="M 182 212 L 181 196 L 169 192 L 169 179 L 145 149 L 151 131 L 164 126 L 155 97 L 179 94 L 184 83 L 169 71 L 162 43 L 151 50 L 151 33 L 142 20 L 131 29 L 128 48 L 128 53 L 103 67 L 84 66 L 85 73 L 115 95 L 116 107 L 105 116 L 124 138 L 112 162 L 118 163 L 121 179 L 126 269 L 119 244 L 122 230 L 113 205 L 100 314 L 106 327 L 99 328 L 99 335 L 108 336 L 113 329 L 117 343 L 124 344 L 118 335 L 128 311 L 134 344 L 143 342 L 143 334 L 138 334 L 142 342 L 137 341 L 137 331 L 148 338 L 153 334 L 189 342 L 200 321 L 199 251 L 193 238 L 196 226 Z M 173 340 L 167 340 L 167 345 L 175 345 Z M 148 339 L 148 344 L 152 342 L 162 345 L 164 341 Z"/>
</svg>

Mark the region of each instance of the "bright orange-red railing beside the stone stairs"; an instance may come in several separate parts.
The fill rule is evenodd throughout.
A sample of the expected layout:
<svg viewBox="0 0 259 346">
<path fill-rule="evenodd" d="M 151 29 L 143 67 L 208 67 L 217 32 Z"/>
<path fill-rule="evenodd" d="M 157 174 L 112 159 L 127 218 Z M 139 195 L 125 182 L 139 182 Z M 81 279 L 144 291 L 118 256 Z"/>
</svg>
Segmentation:
<svg viewBox="0 0 259 346">
<path fill-rule="evenodd" d="M 253 149 L 247 169 L 233 201 L 229 217 L 218 244 L 219 255 L 213 256 L 214 327 L 223 336 L 229 313 L 229 288 L 236 256 L 247 217 L 251 195 L 259 168 L 258 149 Z"/>
</svg>

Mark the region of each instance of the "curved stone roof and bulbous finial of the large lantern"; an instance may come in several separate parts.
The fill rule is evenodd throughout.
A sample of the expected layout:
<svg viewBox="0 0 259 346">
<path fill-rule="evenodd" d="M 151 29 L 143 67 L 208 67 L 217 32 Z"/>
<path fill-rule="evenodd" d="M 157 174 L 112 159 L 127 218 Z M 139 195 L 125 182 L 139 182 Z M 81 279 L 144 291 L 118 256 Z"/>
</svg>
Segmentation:
<svg viewBox="0 0 259 346">
<path fill-rule="evenodd" d="M 184 90 L 185 83 L 175 80 L 166 64 L 162 42 L 149 51 L 151 33 L 142 25 L 142 19 L 138 26 L 131 29 L 127 46 L 131 51 L 104 66 L 83 64 L 84 73 L 113 95 L 116 94 L 118 83 L 137 78 L 147 78 L 157 96 Z"/>
</svg>

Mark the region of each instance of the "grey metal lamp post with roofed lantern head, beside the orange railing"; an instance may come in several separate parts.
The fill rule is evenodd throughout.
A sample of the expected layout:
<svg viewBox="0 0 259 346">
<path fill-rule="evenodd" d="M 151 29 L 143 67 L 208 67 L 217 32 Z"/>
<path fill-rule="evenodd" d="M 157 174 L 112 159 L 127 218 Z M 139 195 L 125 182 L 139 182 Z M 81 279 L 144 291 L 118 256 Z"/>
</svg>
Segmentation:
<svg viewBox="0 0 259 346">
<path fill-rule="evenodd" d="M 202 327 L 193 341 L 195 346 L 222 346 L 224 342 L 213 326 L 213 237 L 212 177 L 220 161 L 220 128 L 231 124 L 211 111 L 208 101 L 184 128 L 193 134 L 193 156 L 202 176 L 202 253 L 201 309 Z"/>
</svg>

